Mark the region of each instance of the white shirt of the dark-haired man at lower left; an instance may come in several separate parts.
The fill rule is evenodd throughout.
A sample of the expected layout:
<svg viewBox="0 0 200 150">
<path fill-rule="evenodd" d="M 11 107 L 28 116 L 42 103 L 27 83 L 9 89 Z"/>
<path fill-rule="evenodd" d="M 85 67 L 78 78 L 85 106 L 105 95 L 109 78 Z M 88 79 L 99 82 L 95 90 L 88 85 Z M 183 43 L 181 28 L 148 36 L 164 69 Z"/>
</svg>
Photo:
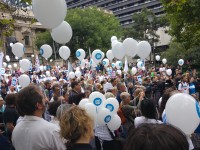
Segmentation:
<svg viewBox="0 0 200 150">
<path fill-rule="evenodd" d="M 65 150 L 59 127 L 36 116 L 24 116 L 12 133 L 15 150 Z"/>
</svg>

